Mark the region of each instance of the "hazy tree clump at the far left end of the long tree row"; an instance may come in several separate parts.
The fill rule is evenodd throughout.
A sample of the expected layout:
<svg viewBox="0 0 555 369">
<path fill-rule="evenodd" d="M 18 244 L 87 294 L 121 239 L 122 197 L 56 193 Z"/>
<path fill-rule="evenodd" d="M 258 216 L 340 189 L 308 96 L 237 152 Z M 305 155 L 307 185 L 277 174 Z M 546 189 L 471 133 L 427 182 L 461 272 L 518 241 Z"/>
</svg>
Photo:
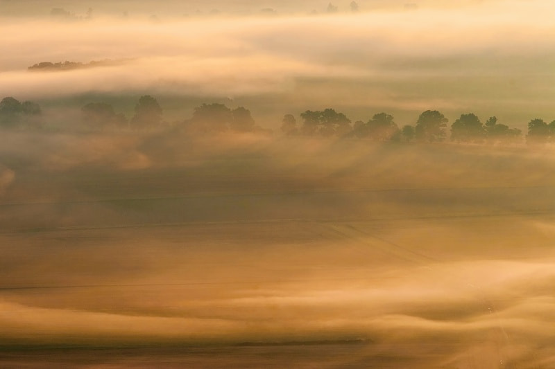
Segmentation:
<svg viewBox="0 0 555 369">
<path fill-rule="evenodd" d="M 42 111 L 35 102 L 7 97 L 0 101 L 0 127 L 23 128 L 40 125 Z"/>
</svg>

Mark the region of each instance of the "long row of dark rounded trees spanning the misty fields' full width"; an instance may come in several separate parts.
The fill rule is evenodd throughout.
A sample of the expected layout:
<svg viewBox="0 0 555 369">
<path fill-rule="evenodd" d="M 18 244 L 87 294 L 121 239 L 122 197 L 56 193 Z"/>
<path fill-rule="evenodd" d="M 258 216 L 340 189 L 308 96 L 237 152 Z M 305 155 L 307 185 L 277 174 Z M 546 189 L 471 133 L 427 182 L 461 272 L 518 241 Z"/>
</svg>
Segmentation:
<svg viewBox="0 0 555 369">
<path fill-rule="evenodd" d="M 89 102 L 80 108 L 81 121 L 89 129 L 150 129 L 170 126 L 163 120 L 163 110 L 155 98 L 141 96 L 134 114 L 127 118 L 108 102 Z M 6 97 L 0 101 L 0 127 L 25 129 L 41 127 L 42 109 L 35 102 Z M 450 138 L 455 143 L 522 143 L 522 131 L 499 123 L 491 116 L 482 123 L 475 114 L 461 114 L 450 127 L 449 120 L 437 110 L 423 111 L 414 125 L 399 127 L 391 114 L 374 114 L 366 122 L 354 123 L 345 114 L 332 108 L 299 114 L 282 119 L 281 132 L 286 136 L 322 136 L 364 138 L 375 142 L 437 143 Z M 173 123 L 198 134 L 219 132 L 270 132 L 255 123 L 245 107 L 231 109 L 223 104 L 203 104 L 194 108 L 191 118 Z M 447 134 L 449 133 L 449 135 Z M 530 145 L 555 143 L 555 120 L 546 123 L 534 118 L 528 123 L 526 142 Z"/>
</svg>

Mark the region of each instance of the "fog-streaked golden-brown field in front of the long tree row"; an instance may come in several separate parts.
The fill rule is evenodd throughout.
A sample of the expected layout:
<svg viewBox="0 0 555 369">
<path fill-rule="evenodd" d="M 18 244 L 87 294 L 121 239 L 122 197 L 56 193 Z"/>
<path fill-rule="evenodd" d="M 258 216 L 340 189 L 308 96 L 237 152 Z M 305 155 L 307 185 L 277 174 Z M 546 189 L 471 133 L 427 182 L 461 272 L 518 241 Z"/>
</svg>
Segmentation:
<svg viewBox="0 0 555 369">
<path fill-rule="evenodd" d="M 4 132 L 0 368 L 553 367 L 553 153 Z"/>
</svg>

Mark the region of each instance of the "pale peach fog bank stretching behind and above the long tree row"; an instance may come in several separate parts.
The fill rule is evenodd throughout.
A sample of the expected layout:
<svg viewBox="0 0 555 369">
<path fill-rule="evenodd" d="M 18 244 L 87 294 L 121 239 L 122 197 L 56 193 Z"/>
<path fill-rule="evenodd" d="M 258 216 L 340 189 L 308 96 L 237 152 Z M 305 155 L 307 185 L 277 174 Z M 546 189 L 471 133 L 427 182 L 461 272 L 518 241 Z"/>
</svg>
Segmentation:
<svg viewBox="0 0 555 369">
<path fill-rule="evenodd" d="M 412 123 L 424 109 L 442 109 L 523 127 L 532 116 L 553 118 L 550 7 L 483 1 L 277 17 L 4 17 L 0 42 L 17 53 L 0 56 L 0 96 L 232 98 L 275 121 L 333 106 L 355 120 L 388 111 Z M 118 63 L 27 70 L 38 62 L 106 59 Z"/>
</svg>

